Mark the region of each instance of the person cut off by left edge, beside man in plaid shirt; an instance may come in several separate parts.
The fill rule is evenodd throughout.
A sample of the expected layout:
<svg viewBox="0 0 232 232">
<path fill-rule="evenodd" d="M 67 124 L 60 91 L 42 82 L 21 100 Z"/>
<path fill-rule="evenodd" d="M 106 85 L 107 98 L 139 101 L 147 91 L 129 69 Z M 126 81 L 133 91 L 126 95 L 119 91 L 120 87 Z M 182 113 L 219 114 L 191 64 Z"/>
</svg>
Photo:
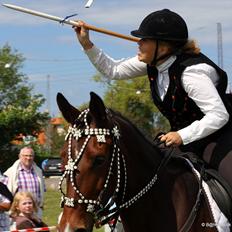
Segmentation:
<svg viewBox="0 0 232 232">
<path fill-rule="evenodd" d="M 10 218 L 6 213 L 11 206 L 13 196 L 4 184 L 6 178 L 0 173 L 0 231 L 8 231 Z"/>
</svg>

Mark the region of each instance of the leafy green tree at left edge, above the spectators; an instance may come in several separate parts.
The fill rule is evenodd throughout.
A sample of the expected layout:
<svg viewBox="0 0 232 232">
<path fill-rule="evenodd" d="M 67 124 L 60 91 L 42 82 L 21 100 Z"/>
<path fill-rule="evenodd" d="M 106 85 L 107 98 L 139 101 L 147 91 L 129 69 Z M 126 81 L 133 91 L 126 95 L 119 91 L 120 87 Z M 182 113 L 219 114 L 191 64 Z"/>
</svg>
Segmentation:
<svg viewBox="0 0 232 232">
<path fill-rule="evenodd" d="M 19 134 L 36 135 L 48 121 L 48 114 L 39 112 L 45 99 L 32 95 L 33 86 L 21 72 L 24 58 L 9 45 L 0 49 L 0 158 L 14 153 L 12 140 Z"/>
</svg>

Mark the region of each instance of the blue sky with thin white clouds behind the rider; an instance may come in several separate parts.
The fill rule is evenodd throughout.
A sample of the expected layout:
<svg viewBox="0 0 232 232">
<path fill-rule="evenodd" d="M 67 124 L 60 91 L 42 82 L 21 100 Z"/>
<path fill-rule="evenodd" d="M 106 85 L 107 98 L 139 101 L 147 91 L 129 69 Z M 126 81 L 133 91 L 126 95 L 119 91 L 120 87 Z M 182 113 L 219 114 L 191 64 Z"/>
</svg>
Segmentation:
<svg viewBox="0 0 232 232">
<path fill-rule="evenodd" d="M 232 84 L 232 1 L 231 0 L 4 0 L 44 13 L 65 17 L 78 15 L 88 24 L 129 35 L 152 11 L 168 8 L 186 20 L 190 38 L 196 39 L 202 52 L 218 63 L 217 23 L 222 25 L 223 68 Z M 92 41 L 115 59 L 134 56 L 135 42 L 90 32 Z M 34 85 L 34 92 L 49 99 L 41 110 L 58 114 L 56 94 L 62 92 L 75 106 L 89 101 L 89 92 L 100 96 L 104 87 L 91 80 L 95 68 L 76 41 L 71 26 L 60 25 L 36 16 L 0 6 L 0 47 L 8 43 L 26 58 L 22 72 Z M 48 78 L 49 76 L 49 78 Z M 49 79 L 49 91 L 48 91 Z"/>
</svg>

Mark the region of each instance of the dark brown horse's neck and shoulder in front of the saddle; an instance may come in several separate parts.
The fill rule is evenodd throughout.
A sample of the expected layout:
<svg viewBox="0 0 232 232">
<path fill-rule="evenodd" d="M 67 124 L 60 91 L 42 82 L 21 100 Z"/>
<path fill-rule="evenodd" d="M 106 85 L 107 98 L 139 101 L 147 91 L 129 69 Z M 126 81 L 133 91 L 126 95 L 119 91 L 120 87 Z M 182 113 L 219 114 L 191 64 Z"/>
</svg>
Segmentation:
<svg viewBox="0 0 232 232">
<path fill-rule="evenodd" d="M 143 231 L 144 221 L 149 231 L 176 231 L 176 228 L 181 228 L 195 203 L 198 191 L 195 177 L 179 161 L 170 162 L 158 171 L 162 154 L 131 126 L 123 127 L 120 145 L 127 166 L 125 201 L 144 189 L 155 174 L 158 175 L 158 181 L 138 202 L 122 210 L 120 216 L 125 231 Z M 154 220 L 148 220 L 147 212 L 153 215 Z M 135 221 L 135 218 L 140 220 Z"/>
</svg>

